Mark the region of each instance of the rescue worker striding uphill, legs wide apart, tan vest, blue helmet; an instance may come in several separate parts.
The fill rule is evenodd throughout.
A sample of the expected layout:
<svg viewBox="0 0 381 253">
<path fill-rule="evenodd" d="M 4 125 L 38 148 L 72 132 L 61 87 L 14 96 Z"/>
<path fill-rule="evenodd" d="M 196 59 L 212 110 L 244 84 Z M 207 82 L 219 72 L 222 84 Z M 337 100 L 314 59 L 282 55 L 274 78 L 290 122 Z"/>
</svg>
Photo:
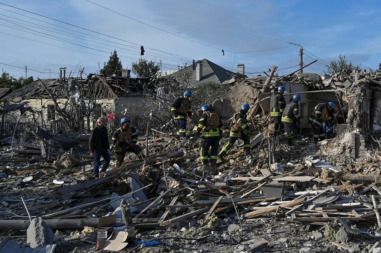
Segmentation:
<svg viewBox="0 0 381 253">
<path fill-rule="evenodd" d="M 218 158 L 225 162 L 224 155 L 229 151 L 237 139 L 243 140 L 243 152 L 245 156 L 250 155 L 250 126 L 247 123 L 246 115 L 250 109 L 249 104 L 243 104 L 241 110 L 234 114 L 232 119 L 232 126 L 230 129 L 230 136 L 227 144 L 222 148 L 218 154 Z"/>
</svg>

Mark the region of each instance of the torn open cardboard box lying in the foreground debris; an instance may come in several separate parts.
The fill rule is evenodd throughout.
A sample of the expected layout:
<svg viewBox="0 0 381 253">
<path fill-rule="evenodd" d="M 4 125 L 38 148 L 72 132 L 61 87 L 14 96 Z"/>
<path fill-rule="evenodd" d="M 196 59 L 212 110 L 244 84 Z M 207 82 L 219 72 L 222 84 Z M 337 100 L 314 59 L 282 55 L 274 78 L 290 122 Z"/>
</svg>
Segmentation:
<svg viewBox="0 0 381 253">
<path fill-rule="evenodd" d="M 135 237 L 135 227 L 126 226 L 127 231 L 115 231 L 114 228 L 124 225 L 124 223 L 117 223 L 116 219 L 117 215 L 99 218 L 97 249 L 122 250 Z"/>
</svg>

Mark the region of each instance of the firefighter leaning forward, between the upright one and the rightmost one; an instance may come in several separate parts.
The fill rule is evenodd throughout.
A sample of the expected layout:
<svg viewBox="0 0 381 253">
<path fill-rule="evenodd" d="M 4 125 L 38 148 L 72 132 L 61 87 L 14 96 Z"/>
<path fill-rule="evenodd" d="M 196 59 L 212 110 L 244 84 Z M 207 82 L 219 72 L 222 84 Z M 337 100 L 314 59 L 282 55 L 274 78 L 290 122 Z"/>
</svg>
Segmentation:
<svg viewBox="0 0 381 253">
<path fill-rule="evenodd" d="M 303 118 L 300 116 L 299 113 L 299 104 L 301 97 L 299 94 L 295 94 L 292 97 L 292 100 L 286 105 L 285 110 L 282 114 L 282 123 L 285 127 L 285 133 L 282 139 L 287 138 L 287 146 L 291 147 L 293 146 L 293 139 L 294 139 L 294 121 L 300 120 L 303 122 Z"/>
</svg>

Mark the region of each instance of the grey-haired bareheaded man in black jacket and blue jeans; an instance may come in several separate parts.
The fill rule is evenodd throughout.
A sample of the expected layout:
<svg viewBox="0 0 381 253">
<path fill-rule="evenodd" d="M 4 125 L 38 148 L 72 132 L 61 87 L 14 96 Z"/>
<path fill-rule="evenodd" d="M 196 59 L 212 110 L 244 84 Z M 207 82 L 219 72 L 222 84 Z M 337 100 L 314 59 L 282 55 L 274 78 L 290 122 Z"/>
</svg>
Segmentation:
<svg viewBox="0 0 381 253">
<path fill-rule="evenodd" d="M 103 157 L 103 165 L 101 173 L 107 170 L 110 164 L 110 144 L 107 136 L 106 119 L 103 117 L 98 118 L 98 126 L 94 127 L 90 133 L 89 149 L 90 154 L 94 157 L 94 177 L 99 177 L 99 165 L 101 163 L 101 156 Z"/>
</svg>

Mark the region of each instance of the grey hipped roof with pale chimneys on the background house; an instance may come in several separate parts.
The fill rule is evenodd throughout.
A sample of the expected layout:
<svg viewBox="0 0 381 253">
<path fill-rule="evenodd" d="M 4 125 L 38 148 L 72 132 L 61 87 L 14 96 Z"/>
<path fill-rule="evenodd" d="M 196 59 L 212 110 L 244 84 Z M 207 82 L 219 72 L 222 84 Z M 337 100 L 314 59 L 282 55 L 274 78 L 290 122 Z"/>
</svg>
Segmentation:
<svg viewBox="0 0 381 253">
<path fill-rule="evenodd" d="M 237 80 L 241 77 L 246 77 L 244 64 L 239 64 L 237 73 L 235 73 L 218 66 L 208 59 L 197 61 L 195 66 L 187 66 L 168 76 L 174 78 L 174 80 L 186 86 L 186 88 L 195 88 L 203 84 L 221 85 L 232 78 Z"/>
</svg>

